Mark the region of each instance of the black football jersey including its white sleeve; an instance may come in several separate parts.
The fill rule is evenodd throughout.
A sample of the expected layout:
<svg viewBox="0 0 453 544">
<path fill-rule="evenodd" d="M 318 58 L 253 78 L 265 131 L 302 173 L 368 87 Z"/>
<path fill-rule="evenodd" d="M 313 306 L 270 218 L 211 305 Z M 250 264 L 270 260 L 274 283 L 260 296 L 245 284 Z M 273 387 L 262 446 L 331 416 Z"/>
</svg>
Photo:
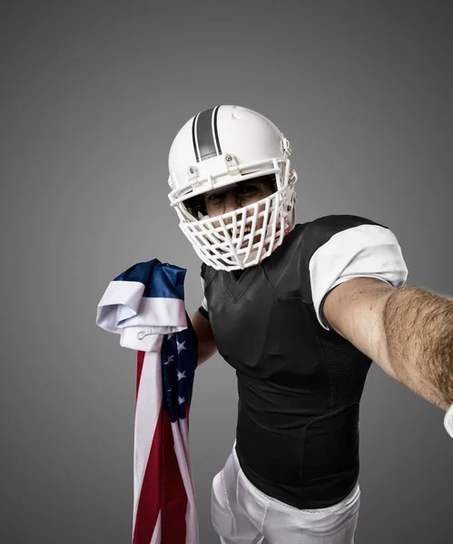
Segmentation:
<svg viewBox="0 0 453 544">
<path fill-rule="evenodd" d="M 355 216 L 296 225 L 240 277 L 202 265 L 201 311 L 238 379 L 236 452 L 258 489 L 300 509 L 353 489 L 371 361 L 330 328 L 322 303 L 350 277 L 399 287 L 407 272 L 389 228 Z"/>
</svg>

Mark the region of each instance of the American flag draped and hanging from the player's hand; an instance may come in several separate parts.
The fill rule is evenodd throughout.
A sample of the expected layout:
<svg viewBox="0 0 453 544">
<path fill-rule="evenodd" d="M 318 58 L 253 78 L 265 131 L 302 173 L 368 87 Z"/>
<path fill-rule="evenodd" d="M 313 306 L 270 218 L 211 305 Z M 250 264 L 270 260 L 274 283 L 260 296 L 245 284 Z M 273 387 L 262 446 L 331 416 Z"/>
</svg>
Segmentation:
<svg viewBox="0 0 453 544">
<path fill-rule="evenodd" d="M 189 412 L 198 345 L 185 312 L 186 270 L 138 263 L 107 287 L 96 323 L 137 350 L 133 544 L 198 544 Z"/>
</svg>

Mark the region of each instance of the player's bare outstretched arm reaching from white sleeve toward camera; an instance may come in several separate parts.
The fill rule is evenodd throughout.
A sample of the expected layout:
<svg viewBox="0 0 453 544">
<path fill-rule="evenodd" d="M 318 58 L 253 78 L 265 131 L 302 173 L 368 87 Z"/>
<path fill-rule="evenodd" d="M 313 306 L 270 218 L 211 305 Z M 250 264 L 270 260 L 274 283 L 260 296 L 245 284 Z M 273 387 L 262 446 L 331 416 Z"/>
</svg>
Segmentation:
<svg viewBox="0 0 453 544">
<path fill-rule="evenodd" d="M 447 411 L 453 403 L 453 298 L 358 277 L 335 287 L 324 316 L 392 378 Z"/>
</svg>

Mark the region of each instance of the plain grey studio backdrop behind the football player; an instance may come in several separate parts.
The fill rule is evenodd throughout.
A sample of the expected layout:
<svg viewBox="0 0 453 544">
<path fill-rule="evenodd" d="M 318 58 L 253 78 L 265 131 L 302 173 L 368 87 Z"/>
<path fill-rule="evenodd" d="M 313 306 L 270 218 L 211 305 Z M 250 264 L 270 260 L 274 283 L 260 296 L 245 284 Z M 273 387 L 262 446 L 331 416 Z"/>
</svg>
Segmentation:
<svg viewBox="0 0 453 544">
<path fill-rule="evenodd" d="M 113 277 L 198 257 L 168 204 L 193 114 L 262 112 L 290 139 L 298 220 L 393 230 L 409 284 L 453 294 L 448 2 L 2 2 L 2 544 L 123 544 L 132 531 L 135 355 L 95 325 Z M 202 544 L 234 439 L 233 370 L 194 384 Z M 451 539 L 443 412 L 372 365 L 360 416 L 359 543 Z M 176 543 L 175 543 L 176 544 Z"/>
</svg>

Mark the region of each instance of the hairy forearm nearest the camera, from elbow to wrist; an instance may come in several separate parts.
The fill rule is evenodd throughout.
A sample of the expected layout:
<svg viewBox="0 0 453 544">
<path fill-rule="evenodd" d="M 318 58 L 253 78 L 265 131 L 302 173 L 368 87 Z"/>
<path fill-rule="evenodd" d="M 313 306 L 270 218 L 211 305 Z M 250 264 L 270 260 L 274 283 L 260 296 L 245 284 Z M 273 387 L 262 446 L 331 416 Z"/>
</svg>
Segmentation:
<svg viewBox="0 0 453 544">
<path fill-rule="evenodd" d="M 443 410 L 453 403 L 453 299 L 400 287 L 383 313 L 396 379 Z"/>
</svg>

